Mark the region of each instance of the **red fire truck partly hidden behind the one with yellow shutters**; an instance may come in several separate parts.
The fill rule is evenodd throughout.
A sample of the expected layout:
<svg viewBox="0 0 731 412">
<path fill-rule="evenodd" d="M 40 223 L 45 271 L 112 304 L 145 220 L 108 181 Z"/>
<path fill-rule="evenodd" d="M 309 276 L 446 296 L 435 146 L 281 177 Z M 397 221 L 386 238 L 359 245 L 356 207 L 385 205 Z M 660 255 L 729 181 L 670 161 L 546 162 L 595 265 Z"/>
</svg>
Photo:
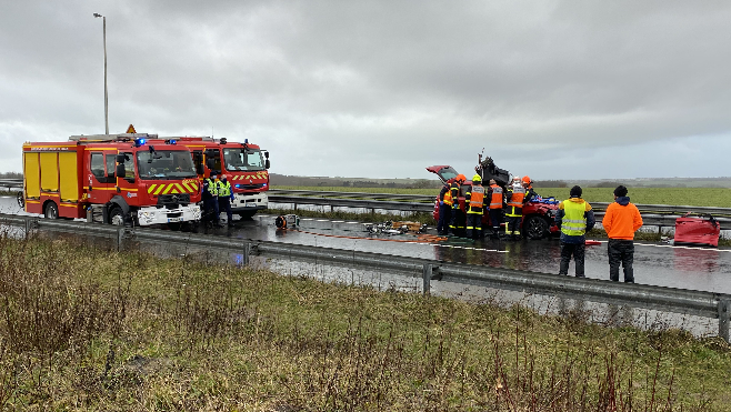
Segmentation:
<svg viewBox="0 0 731 412">
<path fill-rule="evenodd" d="M 186 145 L 193 153 L 198 178 L 210 177 L 211 170 L 227 175 L 231 182 L 233 201 L 231 211 L 243 219 L 253 217 L 257 211 L 267 209 L 269 198 L 269 152 L 259 145 L 229 142 L 226 138 L 209 137 L 174 138 L 179 144 Z"/>
</svg>

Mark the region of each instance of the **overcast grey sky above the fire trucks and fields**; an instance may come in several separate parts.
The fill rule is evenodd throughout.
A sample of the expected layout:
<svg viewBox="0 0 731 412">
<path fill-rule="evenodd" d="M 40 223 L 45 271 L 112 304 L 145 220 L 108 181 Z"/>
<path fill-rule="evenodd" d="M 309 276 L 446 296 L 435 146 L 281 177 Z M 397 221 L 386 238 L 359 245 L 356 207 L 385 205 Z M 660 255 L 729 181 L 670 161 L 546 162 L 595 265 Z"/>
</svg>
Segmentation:
<svg viewBox="0 0 731 412">
<path fill-rule="evenodd" d="M 731 175 L 728 1 L 0 0 L 0 171 L 109 128 L 260 144 L 274 173 Z"/>
</svg>

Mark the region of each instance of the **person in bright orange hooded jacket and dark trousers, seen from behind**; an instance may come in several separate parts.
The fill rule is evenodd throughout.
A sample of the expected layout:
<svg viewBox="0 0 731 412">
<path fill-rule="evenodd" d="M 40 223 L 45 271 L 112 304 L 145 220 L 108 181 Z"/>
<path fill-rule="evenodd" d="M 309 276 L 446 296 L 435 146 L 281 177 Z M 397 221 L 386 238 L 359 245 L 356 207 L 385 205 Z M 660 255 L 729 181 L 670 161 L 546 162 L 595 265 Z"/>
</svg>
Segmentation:
<svg viewBox="0 0 731 412">
<path fill-rule="evenodd" d="M 609 237 L 609 279 L 619 282 L 619 265 L 624 270 L 624 282 L 634 283 L 634 232 L 642 228 L 642 217 L 637 207 L 630 203 L 627 188 L 614 189 L 614 203 L 607 208 L 601 222 Z"/>
</svg>

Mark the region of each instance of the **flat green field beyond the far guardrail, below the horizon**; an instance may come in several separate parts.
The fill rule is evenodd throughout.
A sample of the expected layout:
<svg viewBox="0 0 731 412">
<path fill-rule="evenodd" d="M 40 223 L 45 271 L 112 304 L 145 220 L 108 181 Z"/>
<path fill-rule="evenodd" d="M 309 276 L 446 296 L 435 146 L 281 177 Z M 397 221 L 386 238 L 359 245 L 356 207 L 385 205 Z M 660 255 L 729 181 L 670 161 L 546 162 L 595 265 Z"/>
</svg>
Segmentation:
<svg viewBox="0 0 731 412">
<path fill-rule="evenodd" d="M 366 192 L 366 193 L 400 193 L 400 194 L 437 194 L 438 189 L 387 189 L 387 188 L 343 188 L 343 187 L 291 187 L 277 185 L 272 189 L 284 190 L 321 190 L 326 192 Z M 542 197 L 567 199 L 569 188 L 537 188 Z M 633 203 L 673 204 L 731 208 L 731 189 L 708 188 L 629 188 Z M 583 198 L 589 202 L 611 202 L 614 200 L 613 189 L 585 188 Z"/>
</svg>

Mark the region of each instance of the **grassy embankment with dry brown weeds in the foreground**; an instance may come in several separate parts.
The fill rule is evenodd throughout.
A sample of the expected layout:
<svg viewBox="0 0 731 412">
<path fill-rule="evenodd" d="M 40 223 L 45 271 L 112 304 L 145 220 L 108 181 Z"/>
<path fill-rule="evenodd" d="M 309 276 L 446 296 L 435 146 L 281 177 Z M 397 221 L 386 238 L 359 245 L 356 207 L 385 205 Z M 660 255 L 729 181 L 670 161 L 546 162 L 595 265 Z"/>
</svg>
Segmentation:
<svg viewBox="0 0 731 412">
<path fill-rule="evenodd" d="M 728 411 L 718 338 L 0 238 L 0 409 Z"/>
</svg>

